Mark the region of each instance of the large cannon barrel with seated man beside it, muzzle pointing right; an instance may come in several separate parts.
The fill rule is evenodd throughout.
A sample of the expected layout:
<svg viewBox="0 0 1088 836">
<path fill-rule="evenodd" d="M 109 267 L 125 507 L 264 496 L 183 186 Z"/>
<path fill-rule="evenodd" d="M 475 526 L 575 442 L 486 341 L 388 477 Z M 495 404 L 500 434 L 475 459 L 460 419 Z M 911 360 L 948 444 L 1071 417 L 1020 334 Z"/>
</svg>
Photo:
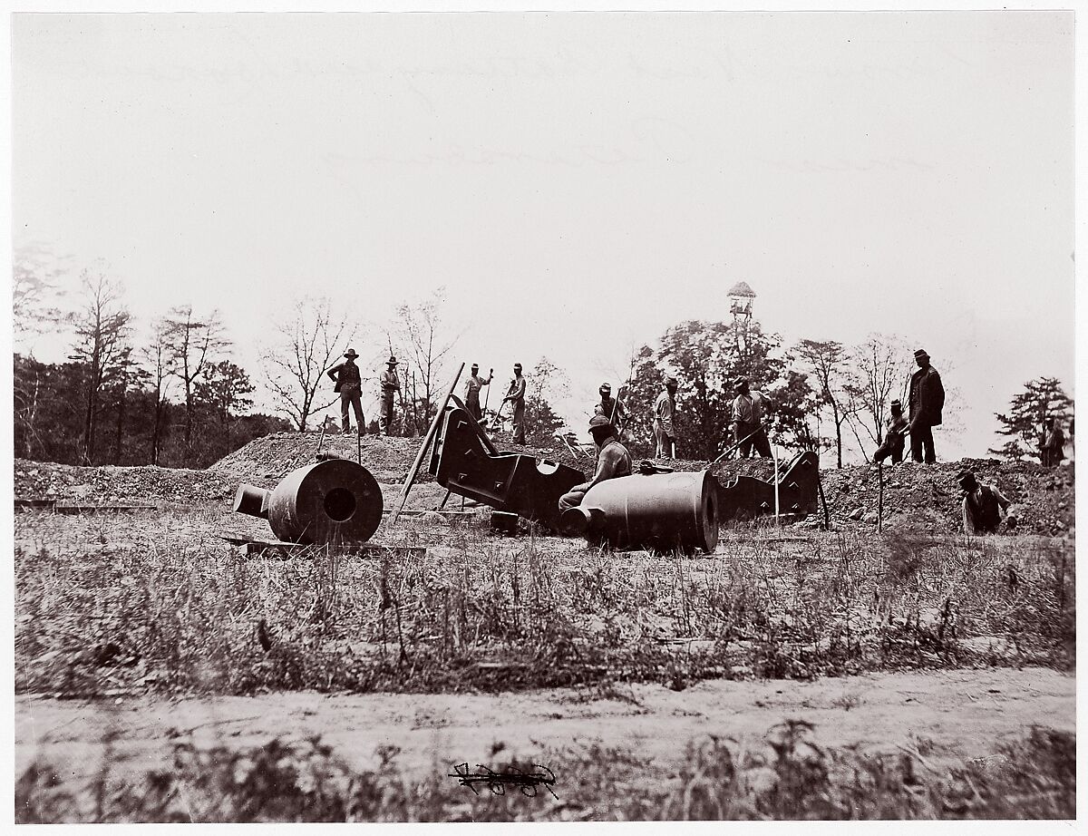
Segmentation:
<svg viewBox="0 0 1088 836">
<path fill-rule="evenodd" d="M 559 530 L 620 549 L 709 553 L 718 544 L 717 480 L 706 470 L 608 479 L 560 515 Z"/>
</svg>

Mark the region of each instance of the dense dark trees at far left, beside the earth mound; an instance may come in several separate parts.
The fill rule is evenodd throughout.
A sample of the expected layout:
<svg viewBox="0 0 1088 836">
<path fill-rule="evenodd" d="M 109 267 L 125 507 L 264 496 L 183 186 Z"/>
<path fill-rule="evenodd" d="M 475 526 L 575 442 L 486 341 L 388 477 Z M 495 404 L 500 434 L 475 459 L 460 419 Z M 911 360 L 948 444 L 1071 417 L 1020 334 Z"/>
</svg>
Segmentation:
<svg viewBox="0 0 1088 836">
<path fill-rule="evenodd" d="M 254 384 L 231 359 L 214 310 L 170 309 L 137 334 L 121 284 L 101 263 L 79 272 L 46 247 L 16 249 L 16 339 L 57 334 L 63 362 L 14 355 L 14 453 L 79 465 L 206 467 L 247 441 L 289 423 L 247 414 Z M 172 396 L 172 393 L 175 393 Z"/>
</svg>

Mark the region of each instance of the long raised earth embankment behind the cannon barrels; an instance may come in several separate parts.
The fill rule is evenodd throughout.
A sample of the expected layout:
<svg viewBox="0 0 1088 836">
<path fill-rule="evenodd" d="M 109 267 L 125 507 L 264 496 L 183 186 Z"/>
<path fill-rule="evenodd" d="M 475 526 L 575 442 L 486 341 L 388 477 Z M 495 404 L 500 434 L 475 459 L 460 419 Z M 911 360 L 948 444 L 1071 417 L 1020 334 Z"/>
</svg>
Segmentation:
<svg viewBox="0 0 1088 836">
<path fill-rule="evenodd" d="M 203 504 L 228 501 L 242 481 L 271 488 L 287 472 L 313 462 L 320 448 L 345 458 L 360 456 L 362 465 L 379 482 L 401 483 L 408 475 L 421 439 L 368 435 L 325 435 L 318 432 L 280 432 L 251 441 L 207 470 L 160 467 L 72 467 L 15 459 L 15 496 L 58 499 L 63 502 L 148 502 Z M 499 450 L 576 467 L 586 475 L 590 456 L 580 456 L 561 444 L 527 447 L 498 442 Z M 424 459 L 418 482 L 432 482 Z M 700 470 L 707 462 L 673 460 L 678 470 Z M 912 528 L 952 533 L 962 527 L 961 492 L 956 475 L 974 470 L 980 481 L 997 484 L 1014 503 L 1018 531 L 1026 534 L 1065 534 L 1075 525 L 1074 471 L 1072 466 L 1041 465 L 998 459 L 920 465 L 906 463 L 883 468 L 883 521 L 892 528 Z M 774 478 L 769 459 L 729 459 L 714 465 L 712 472 L 725 484 L 740 475 Z M 880 487 L 874 465 L 821 471 L 824 493 L 832 519 L 843 526 L 873 527 L 877 519 Z M 823 516 L 821 513 L 817 516 Z"/>
</svg>

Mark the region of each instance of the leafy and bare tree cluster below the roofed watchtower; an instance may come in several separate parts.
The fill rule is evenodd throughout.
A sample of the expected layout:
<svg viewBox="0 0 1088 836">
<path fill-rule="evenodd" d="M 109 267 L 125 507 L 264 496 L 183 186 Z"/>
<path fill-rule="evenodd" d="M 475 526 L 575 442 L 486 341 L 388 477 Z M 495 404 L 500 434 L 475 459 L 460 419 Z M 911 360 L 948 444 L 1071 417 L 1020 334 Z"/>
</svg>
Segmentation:
<svg viewBox="0 0 1088 836">
<path fill-rule="evenodd" d="M 691 320 L 676 324 L 656 345 L 632 354 L 626 405 L 636 455 L 652 452 L 653 404 L 672 374 L 677 392 L 677 453 L 713 459 L 728 450 L 733 381 L 746 378 L 770 398 L 768 435 L 783 450 L 871 456 L 883 435 L 891 402 L 902 397 L 913 352 L 898 336 L 871 334 L 856 346 L 802 340 L 784 344 L 755 319 Z"/>
</svg>

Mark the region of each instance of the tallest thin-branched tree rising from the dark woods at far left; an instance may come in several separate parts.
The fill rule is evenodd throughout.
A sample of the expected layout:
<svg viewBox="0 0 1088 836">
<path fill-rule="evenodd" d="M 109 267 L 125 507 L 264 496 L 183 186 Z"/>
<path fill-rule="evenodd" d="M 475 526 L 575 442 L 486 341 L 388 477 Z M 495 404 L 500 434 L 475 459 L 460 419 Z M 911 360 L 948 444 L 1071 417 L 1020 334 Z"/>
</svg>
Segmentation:
<svg viewBox="0 0 1088 836">
<path fill-rule="evenodd" d="M 72 315 L 76 343 L 73 359 L 86 368 L 86 402 L 81 458 L 85 464 L 95 459 L 95 434 L 100 413 L 103 386 L 115 382 L 129 364 L 131 327 L 128 311 L 121 304 L 122 287 L 107 278 L 101 267 L 85 269 L 81 274 L 83 304 Z"/>
</svg>

